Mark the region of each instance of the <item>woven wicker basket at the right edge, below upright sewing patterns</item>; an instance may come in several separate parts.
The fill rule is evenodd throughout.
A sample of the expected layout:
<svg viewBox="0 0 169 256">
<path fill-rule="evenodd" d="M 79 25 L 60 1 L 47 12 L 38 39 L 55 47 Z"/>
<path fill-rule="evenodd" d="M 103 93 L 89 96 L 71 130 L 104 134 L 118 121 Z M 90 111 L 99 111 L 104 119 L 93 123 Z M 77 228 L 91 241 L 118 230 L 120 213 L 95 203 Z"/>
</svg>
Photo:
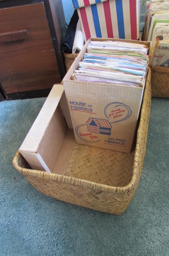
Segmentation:
<svg viewBox="0 0 169 256">
<path fill-rule="evenodd" d="M 142 41 L 146 41 L 143 27 Z M 152 97 L 169 98 L 169 67 L 151 66 Z"/>
</svg>

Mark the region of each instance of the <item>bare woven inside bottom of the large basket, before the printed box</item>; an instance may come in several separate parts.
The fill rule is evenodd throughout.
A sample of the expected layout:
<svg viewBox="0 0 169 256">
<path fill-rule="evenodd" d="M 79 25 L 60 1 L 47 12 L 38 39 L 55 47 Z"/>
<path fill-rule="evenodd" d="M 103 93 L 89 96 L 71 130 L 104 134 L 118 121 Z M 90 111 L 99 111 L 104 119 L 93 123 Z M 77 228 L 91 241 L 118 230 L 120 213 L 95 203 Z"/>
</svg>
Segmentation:
<svg viewBox="0 0 169 256">
<path fill-rule="evenodd" d="M 125 153 L 112 154 L 111 150 L 76 144 L 66 176 L 109 186 L 126 186 L 132 177 L 133 156 L 134 151 L 126 157 Z"/>
</svg>

